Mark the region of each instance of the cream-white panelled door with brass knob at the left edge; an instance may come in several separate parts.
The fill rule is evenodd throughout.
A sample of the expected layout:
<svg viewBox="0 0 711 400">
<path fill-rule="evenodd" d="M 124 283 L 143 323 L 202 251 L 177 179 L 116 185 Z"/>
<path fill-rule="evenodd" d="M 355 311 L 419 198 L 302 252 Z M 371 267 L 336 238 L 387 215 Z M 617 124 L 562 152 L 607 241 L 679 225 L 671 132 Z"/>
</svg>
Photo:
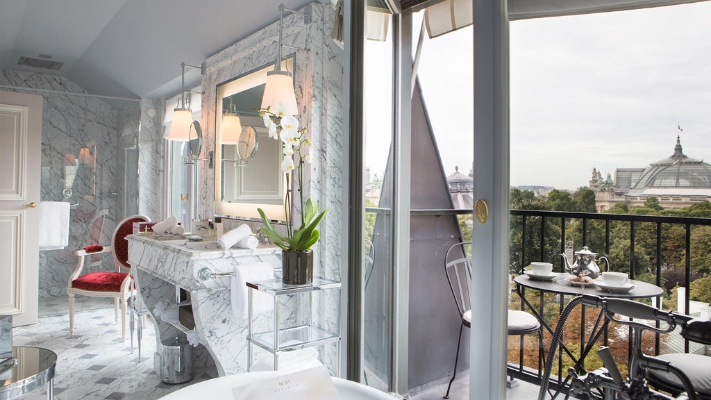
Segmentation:
<svg viewBox="0 0 711 400">
<path fill-rule="evenodd" d="M 0 315 L 37 323 L 42 96 L 0 92 Z"/>
</svg>

